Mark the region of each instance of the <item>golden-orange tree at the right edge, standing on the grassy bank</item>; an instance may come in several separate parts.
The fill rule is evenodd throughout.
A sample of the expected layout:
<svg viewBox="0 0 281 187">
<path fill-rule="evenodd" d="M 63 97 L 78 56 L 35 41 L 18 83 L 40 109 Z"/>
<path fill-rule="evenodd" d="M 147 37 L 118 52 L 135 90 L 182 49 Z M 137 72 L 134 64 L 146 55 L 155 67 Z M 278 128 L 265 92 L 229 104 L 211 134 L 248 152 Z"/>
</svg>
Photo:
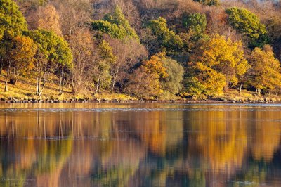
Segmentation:
<svg viewBox="0 0 281 187">
<path fill-rule="evenodd" d="M 274 57 L 273 49 L 266 45 L 263 49 L 255 48 L 251 53 L 251 84 L 256 93 L 272 90 L 281 86 L 280 62 Z"/>
</svg>

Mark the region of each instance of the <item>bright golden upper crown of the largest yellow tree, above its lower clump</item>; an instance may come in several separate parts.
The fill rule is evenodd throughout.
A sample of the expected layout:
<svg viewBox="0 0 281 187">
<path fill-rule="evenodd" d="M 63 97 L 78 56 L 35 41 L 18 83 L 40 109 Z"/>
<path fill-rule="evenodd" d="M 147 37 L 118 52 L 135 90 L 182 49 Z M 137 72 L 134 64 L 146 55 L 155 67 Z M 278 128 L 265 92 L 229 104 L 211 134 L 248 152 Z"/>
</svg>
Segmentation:
<svg viewBox="0 0 281 187">
<path fill-rule="evenodd" d="M 244 58 L 242 41 L 233 42 L 218 34 L 206 41 L 193 58 L 223 73 L 226 82 L 234 85 L 237 84 L 238 77 L 244 75 L 250 67 Z"/>
</svg>

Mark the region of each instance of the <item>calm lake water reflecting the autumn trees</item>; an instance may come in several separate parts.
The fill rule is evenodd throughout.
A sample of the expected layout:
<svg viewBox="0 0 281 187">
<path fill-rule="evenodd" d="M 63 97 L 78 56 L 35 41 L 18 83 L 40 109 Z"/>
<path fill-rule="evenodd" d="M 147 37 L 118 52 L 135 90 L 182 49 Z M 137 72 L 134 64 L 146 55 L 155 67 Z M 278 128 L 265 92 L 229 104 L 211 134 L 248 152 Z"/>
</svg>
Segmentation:
<svg viewBox="0 0 281 187">
<path fill-rule="evenodd" d="M 0 186 L 281 186 L 281 105 L 1 104 Z"/>
</svg>

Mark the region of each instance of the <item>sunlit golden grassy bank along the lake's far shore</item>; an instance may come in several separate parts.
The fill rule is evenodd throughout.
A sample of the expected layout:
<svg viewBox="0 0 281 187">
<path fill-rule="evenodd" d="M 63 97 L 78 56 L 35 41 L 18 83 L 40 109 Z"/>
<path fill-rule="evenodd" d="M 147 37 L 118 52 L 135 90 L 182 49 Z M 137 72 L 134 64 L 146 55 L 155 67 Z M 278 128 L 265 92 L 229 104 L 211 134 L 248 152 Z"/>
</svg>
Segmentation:
<svg viewBox="0 0 281 187">
<path fill-rule="evenodd" d="M 63 95 L 59 95 L 58 84 L 53 82 L 48 82 L 44 89 L 44 92 L 40 97 L 35 95 L 36 90 L 36 80 L 35 79 L 25 79 L 22 78 L 18 81 L 16 85 L 8 84 L 8 92 L 4 92 L 5 87 L 5 76 L 4 73 L 0 75 L 0 99 L 1 101 L 7 101 L 10 99 L 16 100 L 105 100 L 105 101 L 138 101 L 138 98 L 127 96 L 126 94 L 121 93 L 102 93 L 93 96 L 91 91 L 84 91 L 74 96 L 72 94 L 72 89 L 70 86 L 65 86 Z M 191 99 L 185 99 L 180 97 L 170 98 L 173 101 L 188 102 L 194 101 Z M 196 100 L 195 100 L 196 101 Z M 270 101 L 281 101 L 280 96 L 267 95 L 267 96 L 257 96 L 256 93 L 251 91 L 243 90 L 241 94 L 237 90 L 229 89 L 222 96 L 217 96 L 214 98 L 209 98 L 206 100 L 197 100 L 197 101 L 224 101 L 224 102 L 270 102 Z"/>
</svg>

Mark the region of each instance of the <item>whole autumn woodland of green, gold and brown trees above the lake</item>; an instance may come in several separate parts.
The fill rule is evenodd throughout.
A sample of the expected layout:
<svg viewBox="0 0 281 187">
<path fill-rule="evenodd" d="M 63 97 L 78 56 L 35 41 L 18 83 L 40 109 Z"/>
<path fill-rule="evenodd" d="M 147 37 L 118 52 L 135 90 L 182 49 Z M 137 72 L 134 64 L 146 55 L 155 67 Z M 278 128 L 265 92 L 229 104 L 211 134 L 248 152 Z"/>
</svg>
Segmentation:
<svg viewBox="0 0 281 187">
<path fill-rule="evenodd" d="M 277 97 L 280 15 L 266 0 L 0 0 L 0 98 Z"/>
</svg>

